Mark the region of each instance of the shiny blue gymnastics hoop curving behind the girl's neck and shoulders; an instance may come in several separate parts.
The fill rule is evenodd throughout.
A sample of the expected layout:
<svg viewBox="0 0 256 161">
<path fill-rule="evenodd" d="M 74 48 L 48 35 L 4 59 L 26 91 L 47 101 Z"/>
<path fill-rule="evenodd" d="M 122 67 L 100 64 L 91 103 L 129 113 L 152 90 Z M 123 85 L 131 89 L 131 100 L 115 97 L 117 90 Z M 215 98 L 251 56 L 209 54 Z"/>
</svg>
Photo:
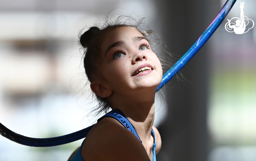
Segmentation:
<svg viewBox="0 0 256 161">
<path fill-rule="evenodd" d="M 213 20 L 210 26 L 203 32 L 203 34 L 199 37 L 195 44 L 181 57 L 181 59 L 177 63 L 174 64 L 174 66 L 171 69 L 169 69 L 163 75 L 163 79 L 161 81 L 161 84 L 158 86 L 157 91 L 159 91 L 168 81 L 170 81 L 175 76 L 175 74 L 179 72 L 188 63 L 188 61 L 201 49 L 201 47 L 211 37 L 214 31 L 223 22 L 224 18 L 226 17 L 230 9 L 233 7 L 235 2 L 236 0 L 226 1 L 219 14 L 216 16 L 216 18 Z M 51 147 L 71 143 L 76 140 L 85 138 L 93 126 L 94 125 L 89 126 L 83 130 L 77 131 L 75 133 L 58 137 L 32 138 L 14 133 L 13 131 L 9 130 L 7 127 L 0 123 L 0 134 L 5 138 L 22 145 L 31 147 Z"/>
</svg>

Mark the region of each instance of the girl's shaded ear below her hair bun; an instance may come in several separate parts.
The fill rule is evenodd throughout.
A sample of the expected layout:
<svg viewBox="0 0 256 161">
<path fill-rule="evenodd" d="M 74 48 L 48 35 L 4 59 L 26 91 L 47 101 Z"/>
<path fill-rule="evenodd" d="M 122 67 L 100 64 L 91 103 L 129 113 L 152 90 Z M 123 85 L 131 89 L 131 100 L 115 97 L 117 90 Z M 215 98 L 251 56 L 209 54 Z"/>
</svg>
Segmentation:
<svg viewBox="0 0 256 161">
<path fill-rule="evenodd" d="M 104 86 L 101 82 L 97 80 L 91 82 L 90 86 L 93 92 L 99 97 L 106 98 L 112 94 L 112 90 L 109 87 Z"/>
</svg>

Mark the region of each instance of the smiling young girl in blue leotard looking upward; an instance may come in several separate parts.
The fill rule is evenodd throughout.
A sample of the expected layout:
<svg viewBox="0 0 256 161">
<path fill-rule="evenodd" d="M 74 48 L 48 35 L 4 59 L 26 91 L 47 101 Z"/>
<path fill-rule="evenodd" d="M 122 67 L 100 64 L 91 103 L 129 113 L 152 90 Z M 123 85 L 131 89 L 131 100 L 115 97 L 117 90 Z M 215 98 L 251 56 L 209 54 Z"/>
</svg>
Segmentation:
<svg viewBox="0 0 256 161">
<path fill-rule="evenodd" d="M 147 40 L 154 32 L 139 31 L 139 23 L 116 22 L 91 27 L 80 37 L 85 73 L 99 111 L 113 111 L 98 120 L 68 160 L 152 161 L 160 150 L 153 122 L 162 67 Z"/>
</svg>

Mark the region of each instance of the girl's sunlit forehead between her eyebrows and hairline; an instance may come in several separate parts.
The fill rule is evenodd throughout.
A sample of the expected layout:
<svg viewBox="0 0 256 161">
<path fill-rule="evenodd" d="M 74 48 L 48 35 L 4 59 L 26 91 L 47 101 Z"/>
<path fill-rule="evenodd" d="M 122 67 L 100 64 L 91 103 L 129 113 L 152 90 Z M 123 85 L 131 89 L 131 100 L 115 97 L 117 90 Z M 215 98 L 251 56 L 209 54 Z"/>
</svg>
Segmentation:
<svg viewBox="0 0 256 161">
<path fill-rule="evenodd" d="M 144 37 L 144 35 L 134 27 L 118 27 L 109 30 L 103 38 L 101 49 L 104 50 L 117 41 L 132 41 L 134 37 Z"/>
</svg>

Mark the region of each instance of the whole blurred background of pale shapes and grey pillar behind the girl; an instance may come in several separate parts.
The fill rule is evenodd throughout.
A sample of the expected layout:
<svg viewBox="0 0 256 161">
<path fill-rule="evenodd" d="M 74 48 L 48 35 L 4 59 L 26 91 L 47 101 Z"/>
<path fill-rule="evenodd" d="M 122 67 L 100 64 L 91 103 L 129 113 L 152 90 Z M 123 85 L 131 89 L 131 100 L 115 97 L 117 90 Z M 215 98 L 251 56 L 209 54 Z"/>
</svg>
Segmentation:
<svg viewBox="0 0 256 161">
<path fill-rule="evenodd" d="M 0 0 L 0 122 L 18 134 L 42 138 L 96 121 L 78 33 L 108 11 L 145 16 L 176 62 L 224 3 Z M 244 3 L 245 16 L 256 22 L 256 1 Z M 239 6 L 237 1 L 226 18 L 240 17 Z M 226 22 L 165 87 L 165 98 L 157 99 L 158 161 L 256 160 L 256 30 L 237 35 L 225 30 Z M 31 148 L 1 136 L 0 161 L 67 160 L 81 142 Z"/>
</svg>

